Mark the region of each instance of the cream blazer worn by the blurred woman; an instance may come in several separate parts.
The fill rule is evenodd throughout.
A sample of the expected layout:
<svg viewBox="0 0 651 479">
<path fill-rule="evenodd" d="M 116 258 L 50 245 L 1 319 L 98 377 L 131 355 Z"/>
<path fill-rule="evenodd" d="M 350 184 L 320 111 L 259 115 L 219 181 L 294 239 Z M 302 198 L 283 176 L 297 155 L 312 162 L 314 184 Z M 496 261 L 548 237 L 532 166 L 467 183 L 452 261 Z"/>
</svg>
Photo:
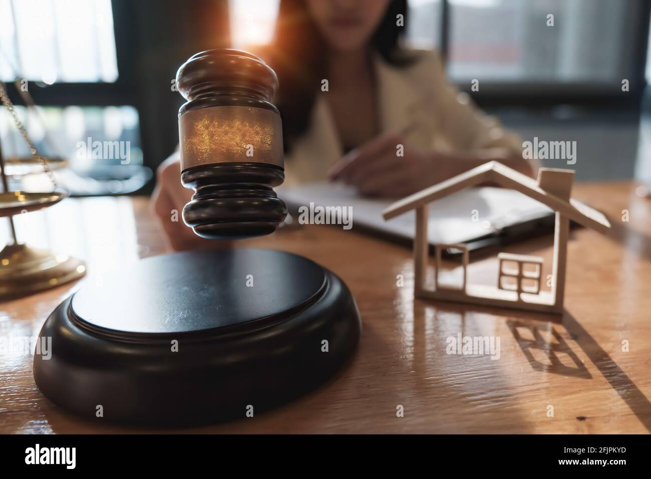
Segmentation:
<svg viewBox="0 0 651 479">
<path fill-rule="evenodd" d="M 448 83 L 436 52 L 414 50 L 413 54 L 417 60 L 404 67 L 374 57 L 381 132 L 408 130 L 406 142 L 422 151 L 506 147 L 521 154 L 518 136 L 503 130 L 497 119 L 472 104 L 468 94 Z M 327 171 L 344 154 L 325 95 L 317 94 L 307 131 L 285 157 L 287 186 L 325 181 Z"/>
</svg>

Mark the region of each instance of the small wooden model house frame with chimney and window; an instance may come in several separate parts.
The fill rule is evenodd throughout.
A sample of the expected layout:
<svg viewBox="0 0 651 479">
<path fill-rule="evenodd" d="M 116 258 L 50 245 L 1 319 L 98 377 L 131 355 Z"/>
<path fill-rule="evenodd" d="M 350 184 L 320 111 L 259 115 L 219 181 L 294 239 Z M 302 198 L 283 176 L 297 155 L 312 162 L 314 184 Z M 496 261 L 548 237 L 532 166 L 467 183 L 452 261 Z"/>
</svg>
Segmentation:
<svg viewBox="0 0 651 479">
<path fill-rule="evenodd" d="M 610 223 L 601 212 L 570 197 L 573 181 L 574 171 L 571 169 L 540 168 L 538 181 L 536 181 L 501 163 L 488 162 L 393 203 L 383 212 L 385 220 L 395 218 L 409 210 L 416 210 L 416 234 L 413 243 L 415 297 L 562 313 L 570 220 L 601 233 L 605 233 L 610 228 Z M 428 204 L 485 182 L 516 190 L 540 201 L 556 212 L 551 291 L 540 291 L 542 258 L 516 254 L 498 255 L 497 287 L 468 283 L 468 250 L 464 244 L 434 245 L 435 287 L 426 289 L 424 279 L 428 261 Z M 446 248 L 457 248 L 462 251 L 464 280 L 460 288 L 439 284 L 441 250 Z M 507 267 L 509 263 L 513 265 L 510 268 Z"/>
</svg>

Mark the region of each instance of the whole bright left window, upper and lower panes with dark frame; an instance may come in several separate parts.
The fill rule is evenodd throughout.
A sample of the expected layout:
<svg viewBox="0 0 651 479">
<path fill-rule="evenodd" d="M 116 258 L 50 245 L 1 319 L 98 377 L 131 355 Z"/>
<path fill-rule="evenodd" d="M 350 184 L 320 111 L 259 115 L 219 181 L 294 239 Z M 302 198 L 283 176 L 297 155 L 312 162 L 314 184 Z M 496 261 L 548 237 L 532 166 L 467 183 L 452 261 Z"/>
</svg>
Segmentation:
<svg viewBox="0 0 651 479">
<path fill-rule="evenodd" d="M 133 175 L 140 183 L 147 178 L 130 72 L 133 35 L 125 27 L 131 8 L 126 0 L 0 0 L 0 81 L 36 149 L 68 161 L 57 176 L 71 194 L 128 192 Z M 25 108 L 25 93 L 35 108 Z M 30 156 L 2 106 L 0 141 L 7 158 Z M 16 174 L 30 168 L 16 167 Z M 40 175 L 20 181 L 35 190 L 49 186 Z"/>
</svg>

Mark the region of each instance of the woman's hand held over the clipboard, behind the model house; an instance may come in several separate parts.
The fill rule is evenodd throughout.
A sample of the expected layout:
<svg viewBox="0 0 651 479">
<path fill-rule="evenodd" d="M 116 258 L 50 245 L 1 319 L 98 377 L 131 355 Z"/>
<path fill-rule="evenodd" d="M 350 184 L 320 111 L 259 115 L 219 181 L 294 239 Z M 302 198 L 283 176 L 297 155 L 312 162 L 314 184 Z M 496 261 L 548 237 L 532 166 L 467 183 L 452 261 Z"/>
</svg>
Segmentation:
<svg viewBox="0 0 651 479">
<path fill-rule="evenodd" d="M 365 196 L 402 197 L 449 177 L 447 165 L 438 163 L 431 152 L 387 134 L 346 154 L 329 177 L 355 186 Z"/>
</svg>

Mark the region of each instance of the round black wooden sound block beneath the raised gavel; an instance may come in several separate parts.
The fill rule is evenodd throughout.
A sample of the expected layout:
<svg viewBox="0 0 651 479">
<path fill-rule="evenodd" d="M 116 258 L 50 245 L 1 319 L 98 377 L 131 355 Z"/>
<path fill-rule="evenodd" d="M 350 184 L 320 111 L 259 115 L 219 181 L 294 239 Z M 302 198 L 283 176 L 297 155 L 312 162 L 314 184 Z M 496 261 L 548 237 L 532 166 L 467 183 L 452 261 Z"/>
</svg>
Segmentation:
<svg viewBox="0 0 651 479">
<path fill-rule="evenodd" d="M 89 418 L 207 424 L 320 385 L 360 332 L 348 287 L 309 259 L 245 248 L 163 255 L 62 302 L 40 332 L 51 357 L 36 351 L 34 378 Z"/>
</svg>

